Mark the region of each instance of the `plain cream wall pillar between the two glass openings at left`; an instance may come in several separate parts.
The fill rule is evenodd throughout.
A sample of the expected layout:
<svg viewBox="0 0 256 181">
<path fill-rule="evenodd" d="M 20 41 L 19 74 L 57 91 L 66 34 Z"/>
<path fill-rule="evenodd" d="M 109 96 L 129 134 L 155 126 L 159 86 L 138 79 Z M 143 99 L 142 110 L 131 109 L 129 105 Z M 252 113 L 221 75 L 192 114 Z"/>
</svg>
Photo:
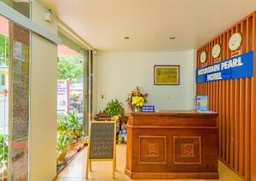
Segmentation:
<svg viewBox="0 0 256 181">
<path fill-rule="evenodd" d="M 32 2 L 32 19 L 56 34 L 56 23 L 44 20 L 44 8 Z M 53 180 L 56 175 L 57 46 L 32 34 L 29 178 Z"/>
</svg>

